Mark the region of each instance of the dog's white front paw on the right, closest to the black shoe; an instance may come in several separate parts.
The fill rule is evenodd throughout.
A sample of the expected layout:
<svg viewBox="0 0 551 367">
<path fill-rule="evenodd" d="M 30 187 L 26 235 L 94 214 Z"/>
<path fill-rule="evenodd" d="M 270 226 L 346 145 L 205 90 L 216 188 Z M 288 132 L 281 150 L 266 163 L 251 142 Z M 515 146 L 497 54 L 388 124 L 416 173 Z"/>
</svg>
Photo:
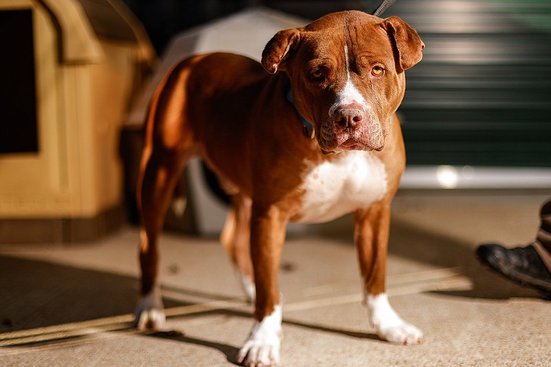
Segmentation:
<svg viewBox="0 0 551 367">
<path fill-rule="evenodd" d="M 371 314 L 371 324 L 379 337 L 388 342 L 406 345 L 423 342 L 423 332 L 397 315 L 386 294 L 367 295 L 366 304 Z"/>
</svg>

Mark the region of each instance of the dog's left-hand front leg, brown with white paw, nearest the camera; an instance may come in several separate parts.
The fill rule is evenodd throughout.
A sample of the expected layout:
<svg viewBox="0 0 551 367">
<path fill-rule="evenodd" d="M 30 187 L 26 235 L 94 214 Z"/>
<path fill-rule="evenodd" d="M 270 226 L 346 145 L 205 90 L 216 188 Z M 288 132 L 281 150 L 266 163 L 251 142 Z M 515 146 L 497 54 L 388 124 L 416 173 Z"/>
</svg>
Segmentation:
<svg viewBox="0 0 551 367">
<path fill-rule="evenodd" d="M 287 218 L 282 218 L 279 209 L 253 205 L 251 258 L 256 280 L 256 321 L 238 355 L 238 362 L 245 366 L 275 366 L 280 361 L 283 333 L 278 269 L 286 224 Z"/>
</svg>

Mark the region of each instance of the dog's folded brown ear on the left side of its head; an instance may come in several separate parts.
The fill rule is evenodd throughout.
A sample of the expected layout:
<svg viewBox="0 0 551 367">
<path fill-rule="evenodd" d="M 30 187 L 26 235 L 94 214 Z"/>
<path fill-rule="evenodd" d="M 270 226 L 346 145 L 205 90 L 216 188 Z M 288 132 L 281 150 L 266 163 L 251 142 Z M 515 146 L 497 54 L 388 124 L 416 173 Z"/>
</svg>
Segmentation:
<svg viewBox="0 0 551 367">
<path fill-rule="evenodd" d="M 270 74 L 278 69 L 284 69 L 284 63 L 289 57 L 289 50 L 298 48 L 300 31 L 295 28 L 280 30 L 264 47 L 262 51 L 262 66 Z"/>
</svg>

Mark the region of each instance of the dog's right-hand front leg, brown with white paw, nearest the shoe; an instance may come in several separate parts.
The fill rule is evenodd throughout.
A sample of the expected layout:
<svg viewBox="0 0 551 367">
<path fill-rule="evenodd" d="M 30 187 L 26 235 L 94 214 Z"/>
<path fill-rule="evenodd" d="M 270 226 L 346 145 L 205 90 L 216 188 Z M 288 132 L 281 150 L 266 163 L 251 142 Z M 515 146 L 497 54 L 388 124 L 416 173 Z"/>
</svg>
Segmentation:
<svg viewBox="0 0 551 367">
<path fill-rule="evenodd" d="M 369 321 L 377 335 L 388 342 L 419 344 L 423 341 L 422 331 L 397 315 L 385 291 L 390 222 L 390 202 L 376 203 L 369 209 L 357 211 L 355 216 L 355 244 Z"/>
</svg>

